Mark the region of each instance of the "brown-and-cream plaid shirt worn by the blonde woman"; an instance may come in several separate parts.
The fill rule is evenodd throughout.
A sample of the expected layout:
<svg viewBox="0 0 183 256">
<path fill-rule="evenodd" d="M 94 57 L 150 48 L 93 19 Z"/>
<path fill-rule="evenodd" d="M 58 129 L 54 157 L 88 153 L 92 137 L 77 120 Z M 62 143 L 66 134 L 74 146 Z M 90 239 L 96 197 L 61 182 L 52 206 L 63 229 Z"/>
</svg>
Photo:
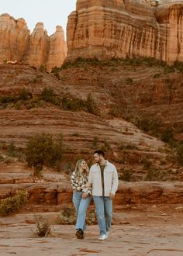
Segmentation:
<svg viewBox="0 0 183 256">
<path fill-rule="evenodd" d="M 82 175 L 79 178 L 79 181 L 76 182 L 76 173 L 73 171 L 71 174 L 71 185 L 74 192 L 85 192 L 88 195 L 91 195 L 91 189 L 87 188 L 86 185 L 88 183 L 88 177 L 86 175 Z"/>
</svg>

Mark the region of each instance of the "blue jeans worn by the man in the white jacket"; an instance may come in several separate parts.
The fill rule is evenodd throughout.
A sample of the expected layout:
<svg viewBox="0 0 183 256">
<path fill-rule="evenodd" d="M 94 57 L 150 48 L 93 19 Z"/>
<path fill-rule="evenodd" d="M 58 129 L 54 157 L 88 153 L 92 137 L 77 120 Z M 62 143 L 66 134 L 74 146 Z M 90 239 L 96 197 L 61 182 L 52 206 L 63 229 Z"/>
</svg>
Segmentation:
<svg viewBox="0 0 183 256">
<path fill-rule="evenodd" d="M 93 195 L 95 209 L 97 212 L 100 235 L 106 234 L 110 230 L 112 223 L 112 199 L 109 196 Z"/>
</svg>

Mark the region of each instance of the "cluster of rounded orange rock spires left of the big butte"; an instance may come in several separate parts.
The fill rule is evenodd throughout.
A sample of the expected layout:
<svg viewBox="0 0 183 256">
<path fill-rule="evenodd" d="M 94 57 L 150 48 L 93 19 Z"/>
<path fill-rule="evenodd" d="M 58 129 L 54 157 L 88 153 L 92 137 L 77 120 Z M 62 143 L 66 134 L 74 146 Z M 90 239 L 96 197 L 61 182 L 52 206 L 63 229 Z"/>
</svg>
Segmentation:
<svg viewBox="0 0 183 256">
<path fill-rule="evenodd" d="M 30 34 L 24 19 L 14 19 L 9 14 L 0 16 L 0 62 L 21 61 L 35 67 L 60 67 L 67 54 L 64 30 L 57 26 L 48 36 L 43 23 L 36 24 Z"/>
</svg>

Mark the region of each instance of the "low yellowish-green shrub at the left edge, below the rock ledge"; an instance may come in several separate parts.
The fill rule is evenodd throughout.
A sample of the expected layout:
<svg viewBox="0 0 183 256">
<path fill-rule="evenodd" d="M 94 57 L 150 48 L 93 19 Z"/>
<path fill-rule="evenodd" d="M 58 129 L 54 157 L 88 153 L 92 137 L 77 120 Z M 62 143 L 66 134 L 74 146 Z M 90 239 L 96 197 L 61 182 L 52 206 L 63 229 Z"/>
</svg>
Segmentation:
<svg viewBox="0 0 183 256">
<path fill-rule="evenodd" d="M 7 216 L 21 209 L 26 204 L 28 196 L 28 192 L 19 190 L 16 192 L 16 195 L 2 199 L 0 203 L 0 215 Z"/>
</svg>

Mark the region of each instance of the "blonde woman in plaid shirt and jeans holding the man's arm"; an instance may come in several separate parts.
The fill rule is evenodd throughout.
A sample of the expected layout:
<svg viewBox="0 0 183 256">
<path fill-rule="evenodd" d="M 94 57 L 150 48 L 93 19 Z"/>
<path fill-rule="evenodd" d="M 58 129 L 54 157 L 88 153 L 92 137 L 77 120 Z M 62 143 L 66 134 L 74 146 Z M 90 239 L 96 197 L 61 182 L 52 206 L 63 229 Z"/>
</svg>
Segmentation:
<svg viewBox="0 0 183 256">
<path fill-rule="evenodd" d="M 71 185 L 73 188 L 72 201 L 78 216 L 75 235 L 78 239 L 84 239 L 86 210 L 91 201 L 91 189 L 87 187 L 88 175 L 89 168 L 87 163 L 83 159 L 78 160 L 75 170 L 71 175 Z"/>
</svg>

